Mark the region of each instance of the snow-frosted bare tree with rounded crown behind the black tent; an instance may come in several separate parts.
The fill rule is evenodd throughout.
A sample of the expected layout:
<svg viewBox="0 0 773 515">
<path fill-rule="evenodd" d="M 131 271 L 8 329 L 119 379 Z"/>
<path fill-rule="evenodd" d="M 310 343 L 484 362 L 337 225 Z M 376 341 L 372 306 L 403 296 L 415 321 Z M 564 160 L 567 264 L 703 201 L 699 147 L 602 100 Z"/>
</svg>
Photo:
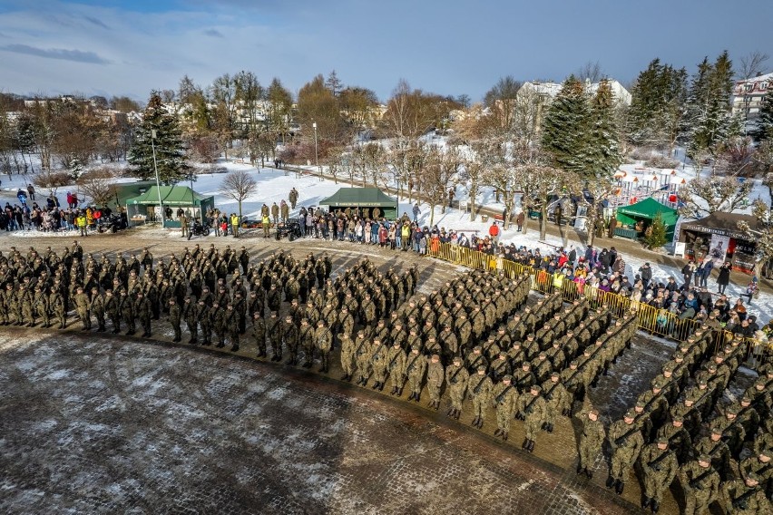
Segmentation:
<svg viewBox="0 0 773 515">
<path fill-rule="evenodd" d="M 680 189 L 680 199 L 684 206 L 680 213 L 694 219 L 702 219 L 711 213 L 732 213 L 746 204 L 753 183 L 750 180 L 739 182 L 736 177 L 696 177 Z"/>
</svg>

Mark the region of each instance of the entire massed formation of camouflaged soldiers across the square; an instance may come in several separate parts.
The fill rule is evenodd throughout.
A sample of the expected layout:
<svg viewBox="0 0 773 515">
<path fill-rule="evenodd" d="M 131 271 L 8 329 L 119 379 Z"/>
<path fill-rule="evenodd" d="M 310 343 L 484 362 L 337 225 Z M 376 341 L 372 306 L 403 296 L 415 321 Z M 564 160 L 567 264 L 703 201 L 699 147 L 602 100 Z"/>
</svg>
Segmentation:
<svg viewBox="0 0 773 515">
<path fill-rule="evenodd" d="M 0 253 L 0 324 L 56 326 L 152 336 L 162 321 L 172 340 L 329 373 L 338 356 L 344 381 L 438 410 L 508 440 L 521 421 L 533 452 L 559 417 L 576 416 L 578 474 L 592 477 L 606 442 L 607 486 L 619 494 L 636 471 L 642 506 L 658 511 L 679 478 L 687 512 L 714 500 L 732 513 L 769 509 L 773 367 L 736 403 L 719 405 L 743 358 L 739 338 L 716 347 L 707 326 L 680 344 L 635 408 L 604 427 L 585 396 L 631 345 L 635 312 L 613 319 L 605 306 L 560 293 L 527 304 L 533 277 L 469 271 L 430 294 L 416 294 L 416 265 L 380 270 L 367 258 L 333 274 L 327 253 L 302 259 L 284 251 L 253 262 L 248 250 L 185 248 L 154 259 L 84 255 L 77 241 L 58 255 L 12 248 Z M 285 359 L 287 358 L 287 359 Z M 493 415 L 492 415 L 493 413 Z M 715 414 L 716 413 L 716 414 Z M 701 430 L 710 434 L 701 436 Z M 704 431 L 705 432 L 705 431 Z M 745 449 L 751 449 L 744 454 Z"/>
</svg>

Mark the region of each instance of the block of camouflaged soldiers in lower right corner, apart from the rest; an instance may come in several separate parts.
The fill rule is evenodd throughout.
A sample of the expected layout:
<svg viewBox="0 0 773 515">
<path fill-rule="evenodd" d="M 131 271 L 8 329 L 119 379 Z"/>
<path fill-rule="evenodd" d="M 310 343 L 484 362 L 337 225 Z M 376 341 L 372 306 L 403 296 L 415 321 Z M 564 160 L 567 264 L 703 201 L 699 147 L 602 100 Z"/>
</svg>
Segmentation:
<svg viewBox="0 0 773 515">
<path fill-rule="evenodd" d="M 709 319 L 662 364 L 635 407 L 612 423 L 607 487 L 622 493 L 631 470 L 643 483 L 642 508 L 657 512 L 679 479 L 685 513 L 771 513 L 773 367 L 723 401 L 747 353 L 741 335 L 726 338 Z"/>
</svg>

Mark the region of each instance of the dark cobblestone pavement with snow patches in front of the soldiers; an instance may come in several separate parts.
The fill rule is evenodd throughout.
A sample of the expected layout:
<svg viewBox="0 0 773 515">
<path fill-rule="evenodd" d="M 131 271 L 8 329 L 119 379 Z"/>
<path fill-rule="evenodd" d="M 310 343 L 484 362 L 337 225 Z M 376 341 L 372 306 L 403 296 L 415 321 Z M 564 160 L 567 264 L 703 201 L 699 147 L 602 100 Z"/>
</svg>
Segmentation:
<svg viewBox="0 0 773 515">
<path fill-rule="evenodd" d="M 445 417 L 314 374 L 128 338 L 0 341 L 2 513 L 631 510 Z"/>
</svg>

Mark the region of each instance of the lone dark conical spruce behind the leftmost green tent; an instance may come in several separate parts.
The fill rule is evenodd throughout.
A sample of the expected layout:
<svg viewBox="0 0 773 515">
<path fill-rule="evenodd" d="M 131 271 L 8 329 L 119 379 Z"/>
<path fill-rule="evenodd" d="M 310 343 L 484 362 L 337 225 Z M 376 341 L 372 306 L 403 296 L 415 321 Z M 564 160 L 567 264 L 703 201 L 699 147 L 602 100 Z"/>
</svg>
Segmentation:
<svg viewBox="0 0 773 515">
<path fill-rule="evenodd" d="M 152 131 L 156 131 L 154 140 Z M 142 122 L 134 129 L 132 148 L 128 154 L 128 160 L 141 180 L 155 177 L 153 145 L 159 180 L 173 184 L 184 179 L 191 167 L 185 161 L 180 124 L 175 116 L 166 112 L 161 104 L 161 95 L 155 91 L 151 92 Z"/>
</svg>

